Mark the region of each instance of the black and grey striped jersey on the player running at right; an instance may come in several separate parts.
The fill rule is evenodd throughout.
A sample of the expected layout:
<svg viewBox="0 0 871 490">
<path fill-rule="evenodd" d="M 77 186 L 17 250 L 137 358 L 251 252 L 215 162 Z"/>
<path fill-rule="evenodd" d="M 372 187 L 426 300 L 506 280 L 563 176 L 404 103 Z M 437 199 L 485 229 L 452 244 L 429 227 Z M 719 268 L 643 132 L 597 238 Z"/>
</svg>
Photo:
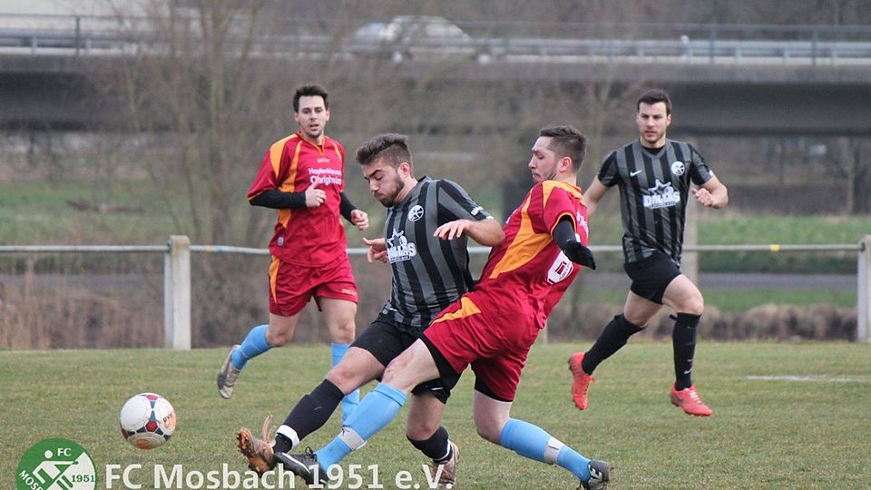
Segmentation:
<svg viewBox="0 0 871 490">
<path fill-rule="evenodd" d="M 713 176 L 699 151 L 687 142 L 666 140 L 661 149 L 651 152 L 635 140 L 608 155 L 599 181 L 620 187 L 626 262 L 659 250 L 680 266 L 690 186 L 702 185 Z"/>
</svg>

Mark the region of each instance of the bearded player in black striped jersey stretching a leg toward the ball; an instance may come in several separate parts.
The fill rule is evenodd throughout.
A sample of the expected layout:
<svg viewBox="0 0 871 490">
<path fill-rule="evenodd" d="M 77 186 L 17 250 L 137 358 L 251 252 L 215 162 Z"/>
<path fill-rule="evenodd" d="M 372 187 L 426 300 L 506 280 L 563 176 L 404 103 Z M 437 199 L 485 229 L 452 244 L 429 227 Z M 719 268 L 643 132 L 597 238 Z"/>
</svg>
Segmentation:
<svg viewBox="0 0 871 490">
<path fill-rule="evenodd" d="M 384 237 L 364 242 L 369 262 L 390 263 L 390 298 L 326 379 L 293 407 L 273 447 L 254 439 L 248 429 L 239 431 L 240 451 L 253 466 L 261 460 L 274 466 L 274 455 L 289 452 L 326 424 L 342 397 L 380 378 L 387 364 L 420 338 L 442 309 L 471 289 L 469 237 L 484 246 L 504 240 L 502 225 L 455 182 L 416 179 L 407 136 L 372 138 L 357 149 L 357 162 L 369 190 L 387 208 Z M 457 448 L 440 426 L 456 379 L 450 381 L 436 379 L 414 389 L 406 428 L 412 445 L 434 466 L 442 466 L 440 486 L 455 484 Z"/>
</svg>

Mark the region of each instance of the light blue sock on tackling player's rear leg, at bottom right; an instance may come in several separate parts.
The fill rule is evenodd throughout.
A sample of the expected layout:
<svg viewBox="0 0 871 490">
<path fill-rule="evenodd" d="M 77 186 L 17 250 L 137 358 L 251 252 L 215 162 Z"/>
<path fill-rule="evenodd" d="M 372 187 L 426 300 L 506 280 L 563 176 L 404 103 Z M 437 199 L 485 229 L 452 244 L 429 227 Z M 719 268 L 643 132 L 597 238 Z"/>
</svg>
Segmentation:
<svg viewBox="0 0 871 490">
<path fill-rule="evenodd" d="M 502 428 L 499 444 L 520 456 L 548 465 L 555 463 L 563 466 L 584 482 L 590 479 L 590 468 L 587 467 L 590 460 L 578 454 L 571 447 L 563 445 L 539 426 L 533 426 L 533 424 L 516 418 L 509 418 Z M 550 454 L 548 454 L 549 446 Z M 559 448 L 559 453 L 556 453 L 557 448 Z"/>
</svg>

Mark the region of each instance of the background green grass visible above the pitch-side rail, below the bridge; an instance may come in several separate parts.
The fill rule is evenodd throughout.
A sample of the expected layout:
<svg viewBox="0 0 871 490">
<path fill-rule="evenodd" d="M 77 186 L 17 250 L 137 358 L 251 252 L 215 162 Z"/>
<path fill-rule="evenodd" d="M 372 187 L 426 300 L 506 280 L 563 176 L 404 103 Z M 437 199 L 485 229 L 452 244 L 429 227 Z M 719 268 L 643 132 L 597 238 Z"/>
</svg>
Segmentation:
<svg viewBox="0 0 871 490">
<path fill-rule="evenodd" d="M 379 205 L 367 201 L 366 192 L 357 190 L 354 195 L 357 205 L 379 213 Z M 484 192 L 475 198 L 489 210 L 500 213 L 501 200 L 494 192 Z M 141 213 L 83 212 L 67 204 L 79 200 L 108 202 L 136 208 Z M 242 197 L 240 207 L 245 209 Z M 856 243 L 860 236 L 871 234 L 871 215 L 784 216 L 705 210 L 700 212 L 699 219 L 702 244 Z M 107 234 L 131 242 L 143 237 L 164 240 L 170 233 L 183 232 L 172 229 L 160 193 L 150 181 L 0 182 L 0 241 L 54 243 L 81 234 L 82 225 L 92 227 L 86 237 L 92 240 L 102 240 L 101 235 Z M 591 237 L 597 245 L 618 245 L 621 236 L 620 210 L 615 199 L 603 204 L 593 217 Z"/>
</svg>

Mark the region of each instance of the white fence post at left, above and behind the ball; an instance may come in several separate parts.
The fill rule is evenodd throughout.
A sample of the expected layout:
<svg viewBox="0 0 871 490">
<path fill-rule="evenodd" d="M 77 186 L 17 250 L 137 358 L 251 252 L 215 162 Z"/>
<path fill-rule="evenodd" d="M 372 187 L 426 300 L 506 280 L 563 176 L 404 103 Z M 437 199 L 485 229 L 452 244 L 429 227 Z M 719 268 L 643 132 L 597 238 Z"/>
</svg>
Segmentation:
<svg viewBox="0 0 871 490">
<path fill-rule="evenodd" d="M 163 260 L 165 348 L 191 348 L 191 239 L 172 235 Z"/>
</svg>

